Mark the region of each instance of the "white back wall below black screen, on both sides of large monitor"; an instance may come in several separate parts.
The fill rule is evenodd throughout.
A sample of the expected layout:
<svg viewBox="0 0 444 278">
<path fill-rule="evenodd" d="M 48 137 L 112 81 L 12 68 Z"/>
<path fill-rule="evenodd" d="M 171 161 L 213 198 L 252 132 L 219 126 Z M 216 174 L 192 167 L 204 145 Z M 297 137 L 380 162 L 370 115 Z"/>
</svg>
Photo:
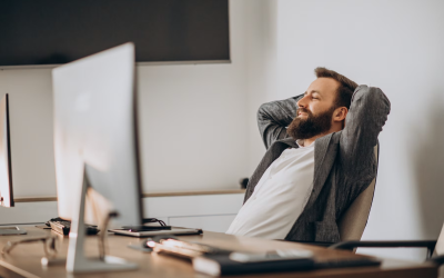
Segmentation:
<svg viewBox="0 0 444 278">
<path fill-rule="evenodd" d="M 138 67 L 143 190 L 234 189 L 246 170 L 245 3 L 230 2 L 231 63 Z M 16 197 L 56 196 L 50 69 L 0 70 Z"/>
</svg>

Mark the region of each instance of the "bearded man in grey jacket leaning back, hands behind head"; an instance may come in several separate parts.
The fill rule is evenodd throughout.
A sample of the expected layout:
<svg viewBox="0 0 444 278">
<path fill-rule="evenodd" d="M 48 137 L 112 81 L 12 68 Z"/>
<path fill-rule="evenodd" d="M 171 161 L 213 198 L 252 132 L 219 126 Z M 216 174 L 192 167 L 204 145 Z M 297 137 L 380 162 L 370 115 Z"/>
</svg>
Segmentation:
<svg viewBox="0 0 444 278">
<path fill-rule="evenodd" d="M 337 242 L 337 220 L 375 178 L 389 99 L 335 71 L 314 71 L 304 95 L 259 109 L 268 150 L 226 234 Z"/>
</svg>

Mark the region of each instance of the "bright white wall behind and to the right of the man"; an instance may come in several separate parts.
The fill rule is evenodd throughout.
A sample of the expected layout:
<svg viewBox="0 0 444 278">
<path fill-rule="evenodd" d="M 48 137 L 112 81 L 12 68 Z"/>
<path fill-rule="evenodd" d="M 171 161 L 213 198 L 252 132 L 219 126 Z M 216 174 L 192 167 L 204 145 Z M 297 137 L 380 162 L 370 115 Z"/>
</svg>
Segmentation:
<svg viewBox="0 0 444 278">
<path fill-rule="evenodd" d="M 263 39 L 275 38 L 275 72 L 268 78 L 275 81 L 256 95 L 250 91 L 250 103 L 305 91 L 319 66 L 380 87 L 392 102 L 363 239 L 436 239 L 443 225 L 443 10 L 438 0 L 280 0 L 269 10 L 275 28 Z M 249 161 L 258 162 L 263 151 L 262 146 L 251 150 Z M 424 258 L 414 250 L 365 252 Z"/>
</svg>

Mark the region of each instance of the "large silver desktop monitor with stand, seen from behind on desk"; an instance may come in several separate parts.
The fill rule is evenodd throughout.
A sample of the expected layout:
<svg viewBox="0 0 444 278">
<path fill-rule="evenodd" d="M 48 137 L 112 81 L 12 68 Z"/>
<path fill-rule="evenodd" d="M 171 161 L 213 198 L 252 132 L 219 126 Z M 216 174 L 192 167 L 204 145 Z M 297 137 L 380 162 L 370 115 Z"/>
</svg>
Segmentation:
<svg viewBox="0 0 444 278">
<path fill-rule="evenodd" d="M 72 221 L 67 258 L 71 272 L 134 267 L 119 258 L 99 261 L 80 255 L 87 188 L 108 200 L 89 195 L 87 215 L 112 210 L 118 212 L 115 226 L 142 225 L 134 73 L 133 43 L 52 70 L 58 208 L 61 218 Z"/>
</svg>

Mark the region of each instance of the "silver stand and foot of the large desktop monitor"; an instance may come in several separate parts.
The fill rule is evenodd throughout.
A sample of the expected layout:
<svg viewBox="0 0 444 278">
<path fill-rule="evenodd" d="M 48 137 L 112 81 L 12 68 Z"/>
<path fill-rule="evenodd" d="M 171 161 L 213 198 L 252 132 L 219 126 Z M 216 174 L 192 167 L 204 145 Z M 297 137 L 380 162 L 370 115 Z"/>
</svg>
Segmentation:
<svg viewBox="0 0 444 278">
<path fill-rule="evenodd" d="M 122 258 L 104 256 L 103 258 L 90 259 L 84 256 L 84 205 L 87 189 L 90 186 L 88 180 L 88 168 L 83 168 L 83 185 L 81 189 L 80 200 L 78 207 L 73 210 L 71 220 L 71 231 L 69 235 L 70 241 L 68 247 L 67 257 L 67 271 L 68 272 L 101 272 L 101 271 L 119 271 L 119 270 L 135 270 L 139 268 L 137 264 L 129 262 Z M 91 169 L 94 171 L 93 169 Z M 107 232 L 107 227 L 103 227 L 101 232 Z M 100 240 L 98 238 L 98 240 Z"/>
</svg>

